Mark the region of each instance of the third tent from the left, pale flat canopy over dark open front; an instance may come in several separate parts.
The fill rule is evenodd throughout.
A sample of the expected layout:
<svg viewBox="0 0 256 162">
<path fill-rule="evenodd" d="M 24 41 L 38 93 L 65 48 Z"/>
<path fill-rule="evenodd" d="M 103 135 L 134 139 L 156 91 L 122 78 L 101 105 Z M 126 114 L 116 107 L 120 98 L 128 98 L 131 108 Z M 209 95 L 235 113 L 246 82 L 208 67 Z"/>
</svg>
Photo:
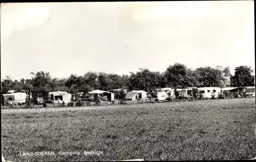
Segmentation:
<svg viewBox="0 0 256 162">
<path fill-rule="evenodd" d="M 104 90 L 93 90 L 90 91 L 89 94 L 93 94 L 93 100 L 96 101 L 100 99 L 100 101 L 115 101 L 114 94 Z"/>
</svg>

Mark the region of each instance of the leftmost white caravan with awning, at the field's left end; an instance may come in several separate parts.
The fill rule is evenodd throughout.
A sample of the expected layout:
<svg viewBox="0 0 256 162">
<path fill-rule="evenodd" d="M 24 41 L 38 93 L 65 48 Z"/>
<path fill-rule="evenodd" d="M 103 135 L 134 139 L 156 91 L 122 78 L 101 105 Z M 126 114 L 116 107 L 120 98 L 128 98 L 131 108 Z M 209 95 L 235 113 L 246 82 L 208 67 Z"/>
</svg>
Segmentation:
<svg viewBox="0 0 256 162">
<path fill-rule="evenodd" d="M 13 94 L 3 94 L 3 105 L 7 105 L 8 101 L 16 102 L 16 103 L 26 103 L 26 97 L 27 95 L 22 92 L 17 92 Z"/>
</svg>

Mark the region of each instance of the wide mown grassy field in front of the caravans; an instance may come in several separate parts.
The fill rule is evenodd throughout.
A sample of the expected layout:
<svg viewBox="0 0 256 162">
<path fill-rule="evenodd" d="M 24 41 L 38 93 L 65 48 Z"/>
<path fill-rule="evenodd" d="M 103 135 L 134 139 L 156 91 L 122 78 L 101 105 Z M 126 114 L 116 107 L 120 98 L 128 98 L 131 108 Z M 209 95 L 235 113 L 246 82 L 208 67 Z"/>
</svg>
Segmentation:
<svg viewBox="0 0 256 162">
<path fill-rule="evenodd" d="M 2 112 L 2 151 L 12 161 L 251 159 L 254 105 L 255 98 L 248 98 Z M 55 155 L 20 156 L 36 151 Z M 86 156 L 83 151 L 103 154 Z"/>
</svg>

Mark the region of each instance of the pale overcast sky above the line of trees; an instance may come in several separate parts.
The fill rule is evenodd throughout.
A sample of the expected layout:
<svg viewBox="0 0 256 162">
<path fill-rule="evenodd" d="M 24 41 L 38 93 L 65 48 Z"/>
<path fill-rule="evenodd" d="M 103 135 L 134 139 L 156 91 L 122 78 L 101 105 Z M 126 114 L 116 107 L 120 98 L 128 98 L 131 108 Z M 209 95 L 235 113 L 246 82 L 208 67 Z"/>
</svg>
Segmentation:
<svg viewBox="0 0 256 162">
<path fill-rule="evenodd" d="M 147 67 L 252 66 L 254 2 L 9 3 L 1 6 L 1 78 Z"/>
</svg>

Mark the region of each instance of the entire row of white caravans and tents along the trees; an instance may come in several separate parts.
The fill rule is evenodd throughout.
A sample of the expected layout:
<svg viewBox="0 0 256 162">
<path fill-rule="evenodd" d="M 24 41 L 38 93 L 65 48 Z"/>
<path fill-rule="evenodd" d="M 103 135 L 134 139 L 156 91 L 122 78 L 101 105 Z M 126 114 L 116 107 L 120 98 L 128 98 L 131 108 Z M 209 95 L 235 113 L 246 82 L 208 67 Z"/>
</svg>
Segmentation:
<svg viewBox="0 0 256 162">
<path fill-rule="evenodd" d="M 167 87 L 167 88 L 160 88 L 157 89 L 157 97 L 159 100 L 166 100 L 169 97 L 175 98 L 175 89 Z M 243 96 L 243 94 L 246 94 L 247 96 L 255 96 L 255 86 L 250 87 L 188 87 L 185 89 L 176 89 L 179 93 L 179 96 L 184 97 L 195 97 L 198 94 L 202 94 L 203 98 L 211 98 L 212 95 L 214 95 L 215 98 L 218 97 L 219 93 L 222 93 L 224 95 L 232 95 L 233 97 L 239 97 Z M 102 91 L 102 90 L 93 90 L 89 92 L 89 95 L 91 95 L 94 100 L 96 98 L 100 98 L 102 101 L 114 101 L 114 94 L 120 92 L 121 89 L 115 89 L 112 92 L 108 91 Z M 144 90 L 133 90 L 130 92 L 127 92 L 126 89 L 124 89 L 125 97 L 124 100 L 144 100 L 147 98 L 147 92 Z M 27 95 L 25 93 L 14 93 L 11 94 L 4 94 L 2 95 L 2 105 L 6 105 L 8 101 L 17 102 L 20 104 L 23 104 L 26 102 Z M 32 96 L 30 96 L 32 97 Z M 65 103 L 69 103 L 72 99 L 72 95 L 69 94 L 66 91 L 54 91 L 49 92 L 48 94 L 48 102 L 54 102 L 56 100 L 60 99 L 61 101 L 64 101 Z"/>
</svg>

